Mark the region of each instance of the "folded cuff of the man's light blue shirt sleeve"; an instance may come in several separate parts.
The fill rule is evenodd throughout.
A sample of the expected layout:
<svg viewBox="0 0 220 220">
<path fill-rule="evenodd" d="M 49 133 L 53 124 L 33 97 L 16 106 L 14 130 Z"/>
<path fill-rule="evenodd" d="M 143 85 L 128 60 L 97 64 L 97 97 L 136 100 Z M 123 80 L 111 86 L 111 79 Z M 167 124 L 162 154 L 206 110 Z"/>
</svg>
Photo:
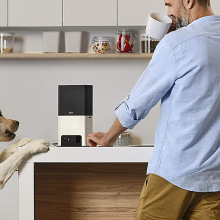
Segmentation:
<svg viewBox="0 0 220 220">
<path fill-rule="evenodd" d="M 133 119 L 132 114 L 129 112 L 129 107 L 126 103 L 128 98 L 116 106 L 115 114 L 123 127 L 133 129 L 140 120 Z"/>
</svg>

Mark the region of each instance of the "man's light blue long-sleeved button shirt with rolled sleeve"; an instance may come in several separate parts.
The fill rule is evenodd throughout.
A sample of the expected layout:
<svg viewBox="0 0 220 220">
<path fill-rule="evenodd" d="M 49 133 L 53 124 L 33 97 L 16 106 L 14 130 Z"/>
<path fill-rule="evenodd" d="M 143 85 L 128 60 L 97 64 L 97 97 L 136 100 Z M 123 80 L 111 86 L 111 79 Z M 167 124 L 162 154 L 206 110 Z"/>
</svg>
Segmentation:
<svg viewBox="0 0 220 220">
<path fill-rule="evenodd" d="M 189 191 L 220 191 L 220 16 L 167 34 L 115 113 L 132 129 L 159 100 L 147 173 Z"/>
</svg>

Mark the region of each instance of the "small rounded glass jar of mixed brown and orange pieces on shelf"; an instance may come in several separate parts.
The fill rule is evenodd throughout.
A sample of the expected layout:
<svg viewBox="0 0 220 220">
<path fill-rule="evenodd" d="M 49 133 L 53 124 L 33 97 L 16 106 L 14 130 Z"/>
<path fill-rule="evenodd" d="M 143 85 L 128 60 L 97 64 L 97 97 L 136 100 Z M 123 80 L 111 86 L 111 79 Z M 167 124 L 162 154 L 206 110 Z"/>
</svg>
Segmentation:
<svg viewBox="0 0 220 220">
<path fill-rule="evenodd" d="M 95 53 L 108 53 L 111 49 L 109 37 L 93 37 L 92 48 Z"/>
</svg>

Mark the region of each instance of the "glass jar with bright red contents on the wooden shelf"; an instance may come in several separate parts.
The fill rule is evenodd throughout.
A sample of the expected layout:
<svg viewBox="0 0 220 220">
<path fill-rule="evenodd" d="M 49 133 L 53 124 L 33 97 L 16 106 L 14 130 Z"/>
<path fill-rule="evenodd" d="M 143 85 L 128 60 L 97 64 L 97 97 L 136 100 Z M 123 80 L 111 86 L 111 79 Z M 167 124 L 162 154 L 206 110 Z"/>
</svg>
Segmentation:
<svg viewBox="0 0 220 220">
<path fill-rule="evenodd" d="M 117 40 L 117 52 L 118 53 L 132 53 L 134 47 L 135 33 L 132 30 L 119 30 Z"/>
</svg>

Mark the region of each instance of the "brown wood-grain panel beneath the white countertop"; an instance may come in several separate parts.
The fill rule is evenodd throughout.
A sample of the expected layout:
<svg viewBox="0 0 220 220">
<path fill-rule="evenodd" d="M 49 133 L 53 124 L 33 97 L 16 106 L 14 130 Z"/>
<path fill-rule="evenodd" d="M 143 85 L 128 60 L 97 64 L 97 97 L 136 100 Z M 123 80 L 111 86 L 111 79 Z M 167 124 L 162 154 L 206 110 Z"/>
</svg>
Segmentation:
<svg viewBox="0 0 220 220">
<path fill-rule="evenodd" d="M 134 220 L 146 163 L 35 164 L 35 220 Z"/>
</svg>

